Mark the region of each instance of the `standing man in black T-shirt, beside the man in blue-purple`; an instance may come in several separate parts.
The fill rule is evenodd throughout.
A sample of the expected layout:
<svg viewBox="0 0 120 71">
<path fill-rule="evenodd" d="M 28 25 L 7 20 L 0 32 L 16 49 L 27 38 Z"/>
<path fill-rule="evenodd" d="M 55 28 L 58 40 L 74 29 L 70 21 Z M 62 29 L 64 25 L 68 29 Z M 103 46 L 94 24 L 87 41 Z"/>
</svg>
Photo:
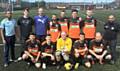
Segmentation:
<svg viewBox="0 0 120 71">
<path fill-rule="evenodd" d="M 18 19 L 17 24 L 19 26 L 20 40 L 23 47 L 21 50 L 23 51 L 25 41 L 28 39 L 29 34 L 32 32 L 32 26 L 34 24 L 33 19 L 29 16 L 28 8 L 24 9 L 23 16 Z M 19 57 L 18 60 L 21 60 L 21 57 Z"/>
</svg>

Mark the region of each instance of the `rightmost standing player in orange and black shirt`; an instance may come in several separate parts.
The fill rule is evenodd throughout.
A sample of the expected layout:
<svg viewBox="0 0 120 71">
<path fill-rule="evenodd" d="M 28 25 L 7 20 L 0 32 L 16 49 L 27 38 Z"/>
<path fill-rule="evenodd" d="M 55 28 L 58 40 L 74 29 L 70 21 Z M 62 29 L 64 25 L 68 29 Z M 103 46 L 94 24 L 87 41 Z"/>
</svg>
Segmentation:
<svg viewBox="0 0 120 71">
<path fill-rule="evenodd" d="M 85 33 L 85 40 L 87 40 L 88 48 L 90 45 L 90 41 L 95 38 L 95 33 L 96 33 L 96 19 L 92 16 L 93 15 L 93 10 L 87 10 L 86 11 L 86 18 L 83 20 L 84 23 L 81 24 L 81 29 Z"/>
</svg>

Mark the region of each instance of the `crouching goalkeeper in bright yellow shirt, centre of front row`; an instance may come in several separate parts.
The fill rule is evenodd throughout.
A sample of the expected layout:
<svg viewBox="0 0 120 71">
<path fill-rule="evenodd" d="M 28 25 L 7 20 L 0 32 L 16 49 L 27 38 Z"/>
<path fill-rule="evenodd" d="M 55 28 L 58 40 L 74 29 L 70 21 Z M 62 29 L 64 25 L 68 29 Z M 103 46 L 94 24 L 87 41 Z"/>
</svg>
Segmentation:
<svg viewBox="0 0 120 71">
<path fill-rule="evenodd" d="M 57 40 L 57 49 L 56 49 L 56 63 L 57 63 L 57 69 L 60 68 L 61 64 L 63 62 L 68 62 L 69 61 L 69 55 L 71 52 L 71 47 L 72 47 L 72 40 L 67 37 L 66 32 L 61 32 L 61 38 Z"/>
</svg>

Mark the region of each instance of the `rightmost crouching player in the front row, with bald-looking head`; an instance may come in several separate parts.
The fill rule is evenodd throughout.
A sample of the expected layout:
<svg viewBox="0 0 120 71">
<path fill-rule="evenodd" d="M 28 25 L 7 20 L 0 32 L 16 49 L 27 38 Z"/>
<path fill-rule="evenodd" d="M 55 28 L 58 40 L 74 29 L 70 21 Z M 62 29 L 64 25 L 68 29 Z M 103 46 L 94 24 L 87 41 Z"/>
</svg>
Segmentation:
<svg viewBox="0 0 120 71">
<path fill-rule="evenodd" d="M 88 58 L 92 60 L 92 63 L 94 63 L 94 61 L 99 61 L 100 64 L 103 64 L 103 62 L 111 60 L 112 56 L 104 47 L 100 32 L 97 32 L 95 39 L 91 41 L 89 53 L 90 55 L 88 55 Z"/>
</svg>

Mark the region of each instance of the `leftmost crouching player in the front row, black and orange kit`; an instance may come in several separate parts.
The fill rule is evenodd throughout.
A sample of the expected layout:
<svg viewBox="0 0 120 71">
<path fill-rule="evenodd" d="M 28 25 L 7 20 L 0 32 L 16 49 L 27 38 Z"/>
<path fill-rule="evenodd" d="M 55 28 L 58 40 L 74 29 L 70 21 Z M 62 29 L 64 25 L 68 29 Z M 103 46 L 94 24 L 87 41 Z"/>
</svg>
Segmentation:
<svg viewBox="0 0 120 71">
<path fill-rule="evenodd" d="M 35 34 L 29 35 L 29 39 L 26 41 L 26 48 L 22 54 L 22 59 L 26 60 L 32 64 L 35 64 L 37 68 L 40 67 L 40 41 L 36 39 Z"/>
</svg>

